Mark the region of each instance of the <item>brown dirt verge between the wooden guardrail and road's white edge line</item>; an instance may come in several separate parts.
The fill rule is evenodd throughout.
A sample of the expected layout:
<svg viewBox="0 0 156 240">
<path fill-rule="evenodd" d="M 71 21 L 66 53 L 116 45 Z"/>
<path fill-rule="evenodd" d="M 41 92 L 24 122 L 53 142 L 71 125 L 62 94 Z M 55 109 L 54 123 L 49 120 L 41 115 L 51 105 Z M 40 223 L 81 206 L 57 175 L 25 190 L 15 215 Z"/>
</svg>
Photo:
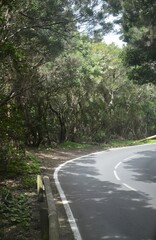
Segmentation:
<svg viewBox="0 0 156 240">
<path fill-rule="evenodd" d="M 34 151 L 33 154 L 38 156 L 42 160 L 41 173 L 42 175 L 49 176 L 52 186 L 52 192 L 56 203 L 59 224 L 60 224 L 60 240 L 74 240 L 72 231 L 70 229 L 67 216 L 56 189 L 53 173 L 55 168 L 61 163 L 87 155 L 92 152 L 100 151 L 98 147 L 94 146 L 86 149 L 53 149 L 44 151 Z"/>
</svg>

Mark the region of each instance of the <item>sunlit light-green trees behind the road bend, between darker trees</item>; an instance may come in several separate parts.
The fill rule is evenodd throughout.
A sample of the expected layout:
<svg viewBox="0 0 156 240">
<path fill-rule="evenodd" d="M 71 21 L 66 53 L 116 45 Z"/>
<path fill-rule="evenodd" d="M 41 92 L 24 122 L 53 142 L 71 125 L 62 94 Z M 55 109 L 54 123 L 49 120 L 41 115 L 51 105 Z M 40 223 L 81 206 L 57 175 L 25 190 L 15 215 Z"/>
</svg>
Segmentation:
<svg viewBox="0 0 156 240">
<path fill-rule="evenodd" d="M 86 36 L 73 39 L 68 47 L 41 67 L 48 138 L 63 142 L 144 136 L 146 88 L 128 81 L 121 50 Z"/>
</svg>

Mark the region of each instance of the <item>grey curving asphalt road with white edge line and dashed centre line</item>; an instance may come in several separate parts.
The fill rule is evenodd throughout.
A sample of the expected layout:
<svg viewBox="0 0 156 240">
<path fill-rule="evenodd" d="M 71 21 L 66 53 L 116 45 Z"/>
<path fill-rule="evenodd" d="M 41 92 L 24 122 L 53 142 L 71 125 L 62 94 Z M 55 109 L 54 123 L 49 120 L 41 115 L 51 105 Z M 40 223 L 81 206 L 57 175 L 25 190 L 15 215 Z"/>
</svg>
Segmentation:
<svg viewBox="0 0 156 240">
<path fill-rule="evenodd" d="M 56 175 L 76 239 L 156 239 L 156 144 L 90 154 Z"/>
</svg>

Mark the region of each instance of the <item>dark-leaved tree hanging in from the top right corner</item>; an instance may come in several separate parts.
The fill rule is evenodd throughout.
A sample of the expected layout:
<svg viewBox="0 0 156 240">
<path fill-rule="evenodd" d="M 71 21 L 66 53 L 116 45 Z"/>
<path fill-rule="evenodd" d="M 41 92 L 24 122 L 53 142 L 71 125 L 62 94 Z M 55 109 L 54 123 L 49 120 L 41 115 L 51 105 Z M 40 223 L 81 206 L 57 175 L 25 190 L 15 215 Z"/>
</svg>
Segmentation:
<svg viewBox="0 0 156 240">
<path fill-rule="evenodd" d="M 138 83 L 156 83 L 155 1 L 107 0 L 108 11 L 119 17 L 123 40 L 127 42 L 124 61 L 129 78 Z"/>
</svg>

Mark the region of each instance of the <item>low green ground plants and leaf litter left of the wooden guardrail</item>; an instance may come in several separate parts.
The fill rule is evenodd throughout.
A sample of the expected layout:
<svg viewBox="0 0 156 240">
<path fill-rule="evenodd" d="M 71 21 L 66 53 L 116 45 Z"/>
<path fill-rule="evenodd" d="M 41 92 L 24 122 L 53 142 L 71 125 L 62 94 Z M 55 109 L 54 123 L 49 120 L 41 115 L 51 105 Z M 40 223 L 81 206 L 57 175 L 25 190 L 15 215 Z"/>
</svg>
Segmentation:
<svg viewBox="0 0 156 240">
<path fill-rule="evenodd" d="M 40 160 L 30 154 L 24 159 L 12 160 L 5 171 L 0 171 L 0 239 L 38 239 L 33 222 L 36 202 L 36 175 L 40 173 Z M 36 207 L 34 203 L 36 202 Z M 37 211 L 37 209 L 35 209 Z M 28 233 L 29 230 L 29 233 Z M 32 234 L 36 234 L 33 237 Z"/>
</svg>

